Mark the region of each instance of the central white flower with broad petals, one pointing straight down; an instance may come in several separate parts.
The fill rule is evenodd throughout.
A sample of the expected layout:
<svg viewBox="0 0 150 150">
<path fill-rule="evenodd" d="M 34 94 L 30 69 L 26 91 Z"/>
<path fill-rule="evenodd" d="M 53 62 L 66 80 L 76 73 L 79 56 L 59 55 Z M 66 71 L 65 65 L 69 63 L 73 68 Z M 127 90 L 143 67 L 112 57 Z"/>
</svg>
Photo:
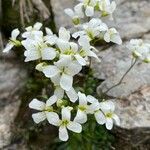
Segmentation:
<svg viewBox="0 0 150 150">
<path fill-rule="evenodd" d="M 61 88 L 65 91 L 70 91 L 73 84 L 73 76 L 78 74 L 82 67 L 77 61 L 70 60 L 70 57 L 65 58 L 55 62 L 54 65 L 45 66 L 43 73 L 48 78 L 59 76 Z"/>
</svg>

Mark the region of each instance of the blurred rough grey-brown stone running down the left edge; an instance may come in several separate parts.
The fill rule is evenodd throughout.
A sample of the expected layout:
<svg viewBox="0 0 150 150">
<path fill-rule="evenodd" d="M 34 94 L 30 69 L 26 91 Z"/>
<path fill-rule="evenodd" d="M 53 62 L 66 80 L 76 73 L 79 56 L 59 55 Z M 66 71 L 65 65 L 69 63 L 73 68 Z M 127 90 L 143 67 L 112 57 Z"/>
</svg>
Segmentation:
<svg viewBox="0 0 150 150">
<path fill-rule="evenodd" d="M 14 53 L 2 54 L 0 49 L 0 149 L 11 142 L 11 128 L 18 113 L 19 94 L 27 72 Z"/>
</svg>

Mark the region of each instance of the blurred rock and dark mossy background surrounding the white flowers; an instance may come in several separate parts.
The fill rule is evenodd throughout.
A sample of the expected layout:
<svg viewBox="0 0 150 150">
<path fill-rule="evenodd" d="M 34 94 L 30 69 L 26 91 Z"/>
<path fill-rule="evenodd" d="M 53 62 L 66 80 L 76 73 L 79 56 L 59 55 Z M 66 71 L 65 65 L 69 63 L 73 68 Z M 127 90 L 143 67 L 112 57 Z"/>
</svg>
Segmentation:
<svg viewBox="0 0 150 150">
<path fill-rule="evenodd" d="M 121 125 L 112 131 L 93 123 L 91 127 L 85 125 L 88 134 L 83 131 L 83 135 L 71 135 L 73 140 L 63 143 L 56 138 L 56 128 L 46 122 L 33 123 L 28 104 L 35 97 L 49 96 L 51 85 L 34 71 L 34 63 L 24 63 L 21 48 L 7 55 L 2 50 L 14 28 L 23 31 L 39 21 L 54 33 L 60 26 L 71 29 L 71 20 L 63 10 L 73 8 L 76 3 L 76 0 L 0 0 L 0 149 L 150 150 L 149 64 L 138 63 L 123 84 L 108 92 L 106 98 L 116 103 L 121 118 Z M 99 95 L 117 83 L 129 68 L 127 41 L 142 38 L 150 42 L 150 0 L 116 0 L 116 3 L 114 20 L 108 24 L 118 29 L 123 45 L 96 45 L 102 62 L 92 60 L 92 72 L 87 75 L 85 68 L 75 79 L 86 94 Z M 90 128 L 95 132 L 91 133 Z"/>
</svg>

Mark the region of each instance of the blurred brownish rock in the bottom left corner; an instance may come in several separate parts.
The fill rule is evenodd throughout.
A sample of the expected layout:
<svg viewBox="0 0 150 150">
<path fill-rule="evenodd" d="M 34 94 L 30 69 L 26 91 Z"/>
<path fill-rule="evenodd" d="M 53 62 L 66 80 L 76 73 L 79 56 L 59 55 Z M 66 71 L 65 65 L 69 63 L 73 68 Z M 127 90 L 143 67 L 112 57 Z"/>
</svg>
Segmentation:
<svg viewBox="0 0 150 150">
<path fill-rule="evenodd" d="M 12 102 L 1 108 L 0 111 L 0 148 L 4 148 L 11 142 L 11 128 L 18 113 L 20 101 Z"/>
</svg>

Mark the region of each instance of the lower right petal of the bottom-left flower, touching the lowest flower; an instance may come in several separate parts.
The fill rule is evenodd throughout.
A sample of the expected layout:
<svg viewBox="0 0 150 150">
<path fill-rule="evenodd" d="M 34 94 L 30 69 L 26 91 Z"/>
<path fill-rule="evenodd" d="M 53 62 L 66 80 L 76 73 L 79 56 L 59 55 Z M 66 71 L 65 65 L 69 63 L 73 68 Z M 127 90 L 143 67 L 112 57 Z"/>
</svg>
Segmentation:
<svg viewBox="0 0 150 150">
<path fill-rule="evenodd" d="M 47 120 L 50 124 L 54 126 L 59 126 L 60 119 L 57 113 L 55 112 L 46 112 Z"/>
</svg>

